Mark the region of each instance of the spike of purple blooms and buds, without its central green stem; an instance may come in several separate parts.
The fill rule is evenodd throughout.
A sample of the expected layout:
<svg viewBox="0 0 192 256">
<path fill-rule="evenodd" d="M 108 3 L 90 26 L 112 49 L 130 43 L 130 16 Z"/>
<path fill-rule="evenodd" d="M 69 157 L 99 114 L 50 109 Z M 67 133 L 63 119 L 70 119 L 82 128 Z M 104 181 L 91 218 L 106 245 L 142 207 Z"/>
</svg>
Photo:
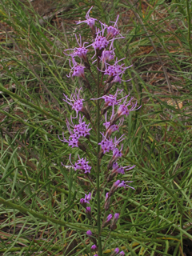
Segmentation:
<svg viewBox="0 0 192 256">
<path fill-rule="evenodd" d="M 90 8 L 90 10 L 92 7 Z M 96 57 L 97 61 L 97 70 L 98 72 L 102 73 L 102 78 L 103 76 L 106 77 L 106 81 L 104 84 L 100 84 L 98 81 L 98 85 L 100 86 L 101 90 L 103 90 L 103 95 L 98 93 L 97 97 L 98 98 L 90 98 L 90 100 L 104 100 L 103 106 L 100 110 L 100 114 L 98 114 L 98 122 L 102 121 L 102 124 L 105 128 L 103 128 L 101 132 L 102 134 L 102 139 L 98 141 L 98 152 L 96 152 L 93 143 L 90 141 L 90 130 L 89 128 L 90 124 L 94 128 L 94 115 L 91 116 L 86 108 L 83 106 L 84 99 L 81 97 L 82 93 L 82 88 L 81 87 L 79 90 L 76 89 L 75 93 L 71 95 L 70 98 L 66 94 L 64 94 L 65 99 L 63 99 L 64 102 L 68 103 L 71 107 L 72 110 L 76 112 L 76 117 L 75 118 L 70 118 L 71 122 L 66 120 L 66 127 L 69 131 L 69 138 L 66 139 L 63 134 L 63 139 L 62 142 L 67 142 L 69 146 L 73 147 L 79 147 L 82 149 L 82 144 L 79 141 L 81 137 L 86 138 L 87 140 L 89 139 L 88 143 L 89 145 L 92 146 L 93 150 L 91 151 L 93 153 L 93 158 L 97 158 L 98 162 L 102 161 L 102 158 L 105 156 L 106 158 L 109 158 L 109 161 L 106 161 L 103 166 L 106 166 L 106 177 L 103 182 L 103 191 L 105 191 L 105 187 L 107 184 L 110 184 L 110 189 L 108 190 L 109 192 L 106 193 L 105 196 L 105 202 L 103 204 L 102 213 L 98 213 L 98 218 L 102 218 L 102 225 L 101 225 L 101 230 L 104 229 L 106 226 L 109 226 L 110 231 L 116 230 L 117 229 L 117 223 L 119 219 L 119 214 L 118 213 L 113 213 L 112 210 L 110 210 L 111 206 L 111 201 L 112 201 L 112 196 L 117 191 L 118 189 L 124 188 L 126 189 L 127 187 L 131 188 L 134 190 L 134 187 L 129 186 L 127 183 L 130 183 L 129 181 L 124 181 L 116 178 L 119 174 L 123 175 L 125 174 L 126 171 L 132 170 L 134 166 L 121 166 L 119 163 L 119 159 L 122 157 L 123 153 L 123 144 L 120 145 L 120 143 L 126 138 L 125 134 L 122 134 L 122 136 L 117 136 L 117 131 L 119 132 L 120 127 L 122 126 L 124 119 L 130 114 L 130 111 L 138 110 L 139 107 L 137 108 L 137 102 L 133 102 L 134 98 L 129 98 L 130 95 L 126 95 L 125 97 L 120 97 L 122 95 L 123 90 L 117 89 L 114 94 L 107 94 L 112 86 L 114 86 L 114 83 L 121 83 L 122 81 L 122 75 L 125 74 L 126 70 L 130 68 L 130 66 L 125 66 L 125 64 L 120 64 L 124 60 L 124 58 L 118 60 L 118 58 L 115 59 L 114 64 L 110 64 L 111 61 L 114 60 L 115 53 L 114 53 L 114 40 L 123 38 L 122 34 L 120 34 L 120 30 L 118 30 L 118 18 L 116 19 L 115 22 L 113 22 L 113 26 L 108 26 L 105 23 L 100 22 L 101 28 L 97 28 L 95 26 L 95 22 L 97 19 L 91 18 L 90 17 L 90 10 L 88 10 L 86 14 L 86 20 L 77 22 L 77 24 L 82 24 L 86 23 L 88 26 L 90 26 L 93 42 L 91 42 L 88 46 L 85 46 L 88 44 L 88 42 L 82 43 L 82 37 L 79 35 L 79 40 L 78 37 L 76 36 L 76 40 L 78 42 L 79 47 L 75 47 L 74 49 L 66 49 L 64 50 L 64 54 L 67 52 L 69 54 L 66 54 L 70 56 L 70 75 L 76 76 L 78 78 L 82 78 L 82 82 L 84 83 L 84 86 L 90 90 L 92 94 L 94 94 L 94 88 L 90 87 L 90 82 L 88 82 L 86 78 L 86 73 L 85 72 L 90 72 L 91 77 L 94 77 L 94 74 L 91 70 L 92 66 L 90 65 L 90 62 L 87 58 L 87 53 L 90 49 L 90 47 L 93 48 L 94 50 L 94 57 Z M 76 58 L 78 60 L 80 59 L 80 62 L 76 62 Z M 72 65 L 71 65 L 72 61 Z M 92 65 L 94 64 L 92 62 Z M 103 79 L 104 80 L 104 79 Z M 125 82 L 130 81 L 126 80 Z M 96 79 L 94 78 L 94 82 L 96 82 Z M 101 82 L 102 83 L 102 82 Z M 101 96 L 101 97 L 100 97 Z M 81 114 L 83 116 L 81 116 Z M 108 116 L 107 116 L 108 115 Z M 100 118 L 103 116 L 103 118 Z M 89 124 L 86 124 L 84 121 L 84 118 L 90 121 Z M 100 118 L 100 119 L 99 119 Z M 74 124 L 72 119 L 76 119 L 76 122 L 78 124 Z M 104 120 L 104 121 L 103 121 Z M 96 133 L 98 133 L 98 130 L 94 129 Z M 113 136 L 115 134 L 116 136 Z M 89 147 L 88 147 L 89 148 Z M 100 150 L 101 149 L 101 150 Z M 100 152 L 99 152 L 100 150 Z M 86 152 L 88 157 L 90 158 L 90 152 L 88 153 L 87 150 L 83 150 Z M 106 154 L 108 153 L 108 154 Z M 95 161 L 94 161 L 95 162 Z M 90 166 L 89 162 L 86 161 L 86 158 L 80 158 L 78 155 L 78 160 L 73 164 L 71 162 L 71 154 L 70 154 L 70 163 L 71 167 L 74 168 L 74 170 L 80 170 L 84 174 L 86 174 L 86 178 L 90 178 L 90 182 L 94 186 L 94 178 L 91 177 L 93 172 L 90 174 L 90 170 L 92 166 Z M 100 163 L 99 163 L 100 164 Z M 91 165 L 93 165 L 93 162 L 91 161 Z M 98 169 L 99 170 L 99 169 Z M 120 176 L 121 177 L 121 176 Z M 99 181 L 99 176 L 97 175 L 98 181 Z M 113 179 L 116 178 L 116 181 L 112 183 Z M 106 184 L 104 184 L 106 182 Z M 110 183 L 111 182 L 111 183 Z M 112 185 L 111 185 L 112 184 Z M 97 182 L 97 188 L 94 189 L 96 190 L 97 193 L 97 198 L 101 197 L 102 194 L 100 193 L 100 187 L 98 188 L 98 182 Z M 93 194 L 93 195 L 92 195 Z M 80 199 L 80 204 L 82 207 L 85 208 L 85 213 L 86 217 L 90 220 L 90 222 L 93 224 L 93 219 L 94 218 L 94 208 L 91 206 L 91 199 L 94 197 L 94 192 L 89 194 L 85 194 L 84 198 Z M 87 206 L 88 205 L 88 206 Z M 90 247 L 92 251 L 101 251 L 101 243 L 99 244 L 98 242 L 98 234 L 93 234 L 94 233 L 94 228 L 93 230 L 87 230 L 86 235 L 90 239 L 91 242 L 93 242 L 93 245 Z M 100 246 L 100 247 L 99 247 Z M 100 249 L 99 249 L 100 248 Z M 118 255 L 118 256 L 124 256 L 125 253 L 123 251 L 120 251 L 118 248 L 115 248 L 114 251 L 112 252 L 111 256 Z M 94 256 L 98 256 L 98 254 L 94 254 Z M 99 255 L 100 256 L 100 255 Z"/>
</svg>

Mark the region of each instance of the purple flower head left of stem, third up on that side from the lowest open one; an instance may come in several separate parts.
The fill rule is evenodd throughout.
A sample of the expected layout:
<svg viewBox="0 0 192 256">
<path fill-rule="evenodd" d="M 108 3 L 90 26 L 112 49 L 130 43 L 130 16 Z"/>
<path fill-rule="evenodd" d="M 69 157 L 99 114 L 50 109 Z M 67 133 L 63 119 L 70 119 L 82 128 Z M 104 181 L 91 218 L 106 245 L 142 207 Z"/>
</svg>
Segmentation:
<svg viewBox="0 0 192 256">
<path fill-rule="evenodd" d="M 82 87 L 79 90 L 76 88 L 75 93 L 71 94 L 70 98 L 68 98 L 66 94 L 63 94 L 66 99 L 64 98 L 62 99 L 64 102 L 72 106 L 72 109 L 76 111 L 77 116 L 78 116 L 78 112 L 82 110 L 82 107 L 83 107 L 82 102 L 84 101 L 84 99 L 80 97 L 81 90 L 82 90 Z"/>
</svg>

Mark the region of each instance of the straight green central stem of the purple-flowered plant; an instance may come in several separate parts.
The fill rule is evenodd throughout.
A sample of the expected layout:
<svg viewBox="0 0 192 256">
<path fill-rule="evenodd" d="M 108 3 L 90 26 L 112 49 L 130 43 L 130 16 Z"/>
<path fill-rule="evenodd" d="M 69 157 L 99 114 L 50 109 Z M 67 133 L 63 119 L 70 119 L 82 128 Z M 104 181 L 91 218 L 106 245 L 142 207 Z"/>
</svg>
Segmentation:
<svg viewBox="0 0 192 256">
<path fill-rule="evenodd" d="M 99 69 L 99 58 L 98 58 L 98 69 Z M 97 90 L 97 98 L 100 96 L 99 92 L 99 70 L 98 70 L 98 90 Z M 97 102 L 97 142 L 100 142 L 100 106 L 99 106 L 99 99 Z M 100 151 L 100 145 L 98 145 L 98 154 Z M 100 211 L 100 184 L 99 184 L 99 174 L 100 174 L 100 159 L 97 159 L 97 205 L 98 205 L 98 255 L 102 256 L 102 239 L 101 239 L 101 211 Z"/>
</svg>

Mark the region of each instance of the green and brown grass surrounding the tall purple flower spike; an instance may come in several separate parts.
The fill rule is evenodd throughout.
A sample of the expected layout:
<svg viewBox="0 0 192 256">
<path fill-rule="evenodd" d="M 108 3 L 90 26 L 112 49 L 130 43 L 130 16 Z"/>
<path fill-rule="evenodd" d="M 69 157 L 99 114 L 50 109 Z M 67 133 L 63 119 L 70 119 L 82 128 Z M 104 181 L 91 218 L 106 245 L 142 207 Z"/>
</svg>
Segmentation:
<svg viewBox="0 0 192 256">
<path fill-rule="evenodd" d="M 136 190 L 115 195 L 121 219 L 104 254 L 122 246 L 126 255 L 192 255 L 187 0 L 0 1 L 0 254 L 90 254 L 79 207 L 89 183 L 61 166 L 78 152 L 58 140 L 70 116 L 62 94 L 80 83 L 66 78 L 70 67 L 62 52 L 77 46 L 75 34 L 90 38 L 86 26 L 75 25 L 90 6 L 102 22 L 120 15 L 126 38 L 115 42 L 115 52 L 133 65 L 124 76 L 132 80 L 121 88 L 142 105 L 122 127 L 122 164 L 136 165 L 125 180 Z"/>
</svg>

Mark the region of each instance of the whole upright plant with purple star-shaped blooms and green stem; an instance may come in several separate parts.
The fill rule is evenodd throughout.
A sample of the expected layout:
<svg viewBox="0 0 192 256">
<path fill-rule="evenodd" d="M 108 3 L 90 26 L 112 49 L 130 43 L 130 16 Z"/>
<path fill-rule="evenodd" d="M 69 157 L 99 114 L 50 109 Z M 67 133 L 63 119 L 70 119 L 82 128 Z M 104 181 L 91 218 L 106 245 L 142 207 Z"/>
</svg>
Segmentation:
<svg viewBox="0 0 192 256">
<path fill-rule="evenodd" d="M 108 227 L 109 234 L 107 238 L 109 238 L 110 232 L 117 229 L 118 219 L 120 218 L 120 214 L 112 209 L 114 193 L 126 188 L 134 190 L 134 187 L 127 184 L 131 181 L 124 181 L 119 178 L 119 175 L 122 176 L 126 171 L 133 169 L 134 166 L 120 165 L 119 159 L 123 155 L 123 144 L 120 144 L 126 139 L 126 136 L 125 134 L 118 136 L 116 131 L 119 132 L 124 118 L 130 114 L 130 111 L 138 110 L 139 107 L 137 108 L 137 102 L 133 102 L 134 98 L 130 98 L 130 95 L 121 98 L 123 90 L 117 89 L 114 94 L 109 94 L 110 90 L 115 90 L 115 84 L 122 82 L 122 75 L 130 68 L 130 66 L 119 64 L 124 58 L 120 60 L 116 58 L 114 61 L 114 40 L 123 38 L 120 30 L 118 30 L 118 18 L 113 26 L 99 22 L 100 28 L 98 28 L 95 26 L 97 20 L 90 17 L 90 10 L 86 14 L 86 20 L 77 23 L 86 23 L 90 26 L 92 42 L 82 44 L 81 35 L 79 41 L 76 36 L 79 47 L 64 50 L 64 54 L 71 58 L 71 70 L 68 77 L 72 75 L 82 79 L 84 86 L 79 89 L 76 88 L 75 93 L 70 98 L 64 94 L 63 101 L 68 103 L 76 114 L 74 116 L 71 114 L 70 121 L 66 120 L 66 127 L 70 134 L 69 138 L 66 138 L 63 133 L 63 138 L 60 138 L 60 140 L 68 143 L 71 148 L 82 150 L 82 153 L 78 154 L 76 162 L 70 154 L 70 167 L 74 168 L 75 171 L 82 172 L 90 179 L 91 189 L 87 189 L 79 204 L 85 210 L 87 219 L 92 225 L 92 229 L 86 231 L 90 240 L 90 250 L 96 252 L 94 256 L 102 256 L 103 250 L 107 249 L 107 239 L 102 240 L 102 230 Z M 91 48 L 94 50 L 92 64 L 90 64 L 87 57 Z M 95 59 L 93 60 L 93 58 Z M 98 73 L 97 78 L 94 77 L 92 72 L 92 66 L 95 63 Z M 90 73 L 94 84 L 91 84 L 86 78 L 86 72 L 87 74 Z M 104 76 L 106 76 L 105 82 L 103 82 Z M 90 91 L 91 98 L 89 101 L 82 96 L 85 90 Z M 95 94 L 96 97 L 94 98 Z M 97 118 L 94 118 L 94 113 L 90 113 L 90 108 L 84 105 L 84 102 L 87 104 L 96 102 Z M 91 136 L 92 138 L 96 136 L 97 146 L 94 145 Z M 93 152 L 92 155 L 90 155 L 90 150 Z M 80 154 L 86 154 L 86 158 L 81 158 Z M 105 174 L 104 180 L 101 179 L 101 173 Z M 103 194 L 105 200 L 102 204 Z M 95 209 L 92 208 L 91 204 L 94 197 L 97 201 L 96 218 L 93 214 Z M 120 256 L 125 255 L 125 253 L 116 247 L 111 255 Z"/>
</svg>

